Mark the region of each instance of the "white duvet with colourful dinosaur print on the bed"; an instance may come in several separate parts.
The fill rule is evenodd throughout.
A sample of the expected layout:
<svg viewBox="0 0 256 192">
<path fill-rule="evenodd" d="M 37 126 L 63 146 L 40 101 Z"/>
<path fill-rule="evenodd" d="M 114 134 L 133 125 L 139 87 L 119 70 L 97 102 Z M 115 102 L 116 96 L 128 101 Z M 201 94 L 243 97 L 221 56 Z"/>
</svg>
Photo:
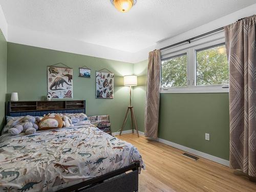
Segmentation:
<svg viewBox="0 0 256 192">
<path fill-rule="evenodd" d="M 139 161 L 130 143 L 93 125 L 0 137 L 0 191 L 57 191 Z"/>
</svg>

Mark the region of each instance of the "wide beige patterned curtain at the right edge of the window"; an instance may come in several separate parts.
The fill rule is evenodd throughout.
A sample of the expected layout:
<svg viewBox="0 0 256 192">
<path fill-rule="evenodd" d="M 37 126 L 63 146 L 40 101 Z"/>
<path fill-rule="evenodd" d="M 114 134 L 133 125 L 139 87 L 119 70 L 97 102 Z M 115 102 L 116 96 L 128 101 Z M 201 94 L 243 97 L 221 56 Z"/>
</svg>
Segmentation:
<svg viewBox="0 0 256 192">
<path fill-rule="evenodd" d="M 256 15 L 226 26 L 230 167 L 256 176 Z"/>
</svg>

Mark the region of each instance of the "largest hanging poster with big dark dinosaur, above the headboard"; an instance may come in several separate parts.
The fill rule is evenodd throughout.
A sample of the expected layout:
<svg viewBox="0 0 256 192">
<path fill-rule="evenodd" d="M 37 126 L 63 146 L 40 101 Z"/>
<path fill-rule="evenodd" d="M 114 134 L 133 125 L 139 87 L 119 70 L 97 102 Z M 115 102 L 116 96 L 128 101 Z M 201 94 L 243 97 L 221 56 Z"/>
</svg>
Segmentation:
<svg viewBox="0 0 256 192">
<path fill-rule="evenodd" d="M 52 99 L 73 98 L 73 69 L 47 67 L 47 86 Z"/>
</svg>

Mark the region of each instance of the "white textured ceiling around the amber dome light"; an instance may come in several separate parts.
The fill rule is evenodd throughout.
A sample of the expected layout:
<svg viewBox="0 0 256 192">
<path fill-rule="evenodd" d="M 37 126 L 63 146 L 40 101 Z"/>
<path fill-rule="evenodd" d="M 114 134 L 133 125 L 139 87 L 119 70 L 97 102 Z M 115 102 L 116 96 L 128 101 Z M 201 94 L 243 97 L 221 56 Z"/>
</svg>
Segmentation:
<svg viewBox="0 0 256 192">
<path fill-rule="evenodd" d="M 118 12 L 110 0 L 0 0 L 8 25 L 138 52 L 256 0 L 138 0 Z"/>
</svg>

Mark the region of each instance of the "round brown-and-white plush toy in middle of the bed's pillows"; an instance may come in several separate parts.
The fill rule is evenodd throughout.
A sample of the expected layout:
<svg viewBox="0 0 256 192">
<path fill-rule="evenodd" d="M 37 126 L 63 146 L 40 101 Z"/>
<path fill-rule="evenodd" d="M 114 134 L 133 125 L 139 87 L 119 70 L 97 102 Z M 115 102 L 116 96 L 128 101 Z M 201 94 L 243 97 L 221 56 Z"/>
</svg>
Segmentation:
<svg viewBox="0 0 256 192">
<path fill-rule="evenodd" d="M 51 130 L 63 126 L 62 118 L 57 114 L 48 114 L 39 123 L 39 130 Z"/>
</svg>

